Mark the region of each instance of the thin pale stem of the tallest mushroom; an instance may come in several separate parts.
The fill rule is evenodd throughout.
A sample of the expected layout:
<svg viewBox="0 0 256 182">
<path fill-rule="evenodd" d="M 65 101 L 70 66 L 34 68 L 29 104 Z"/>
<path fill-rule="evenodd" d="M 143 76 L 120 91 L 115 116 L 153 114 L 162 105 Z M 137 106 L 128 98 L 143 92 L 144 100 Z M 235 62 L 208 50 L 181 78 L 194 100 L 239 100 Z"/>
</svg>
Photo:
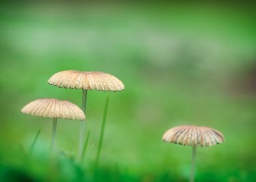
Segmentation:
<svg viewBox="0 0 256 182">
<path fill-rule="evenodd" d="M 82 110 L 84 111 L 84 114 L 86 114 L 86 98 L 87 98 L 87 90 L 83 90 L 83 96 L 82 96 Z M 84 146 L 84 127 L 86 125 L 85 121 L 81 122 L 80 125 L 80 137 L 79 137 L 79 146 L 78 146 L 78 161 L 81 161 L 82 159 L 82 151 Z"/>
</svg>

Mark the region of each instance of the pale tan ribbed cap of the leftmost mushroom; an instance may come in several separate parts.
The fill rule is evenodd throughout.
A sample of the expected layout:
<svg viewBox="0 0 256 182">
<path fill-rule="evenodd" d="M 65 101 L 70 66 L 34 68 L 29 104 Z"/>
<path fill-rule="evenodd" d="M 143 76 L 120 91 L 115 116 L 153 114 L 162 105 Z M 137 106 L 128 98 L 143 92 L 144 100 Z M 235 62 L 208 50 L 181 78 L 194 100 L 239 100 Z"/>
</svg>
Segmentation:
<svg viewBox="0 0 256 182">
<path fill-rule="evenodd" d="M 44 118 L 63 118 L 70 120 L 85 120 L 84 112 L 69 101 L 58 99 L 37 99 L 22 108 L 22 113 Z"/>
</svg>

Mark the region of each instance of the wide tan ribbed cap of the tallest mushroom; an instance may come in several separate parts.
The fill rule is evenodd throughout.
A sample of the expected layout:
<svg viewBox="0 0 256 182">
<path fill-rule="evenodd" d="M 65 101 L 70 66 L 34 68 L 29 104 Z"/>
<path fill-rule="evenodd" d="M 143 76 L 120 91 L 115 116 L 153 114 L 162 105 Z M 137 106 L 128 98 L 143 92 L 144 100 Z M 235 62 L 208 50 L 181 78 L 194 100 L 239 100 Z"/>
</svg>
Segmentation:
<svg viewBox="0 0 256 182">
<path fill-rule="evenodd" d="M 120 91 L 125 89 L 120 79 L 103 72 L 67 70 L 52 75 L 48 83 L 54 86 L 83 90 Z"/>
</svg>

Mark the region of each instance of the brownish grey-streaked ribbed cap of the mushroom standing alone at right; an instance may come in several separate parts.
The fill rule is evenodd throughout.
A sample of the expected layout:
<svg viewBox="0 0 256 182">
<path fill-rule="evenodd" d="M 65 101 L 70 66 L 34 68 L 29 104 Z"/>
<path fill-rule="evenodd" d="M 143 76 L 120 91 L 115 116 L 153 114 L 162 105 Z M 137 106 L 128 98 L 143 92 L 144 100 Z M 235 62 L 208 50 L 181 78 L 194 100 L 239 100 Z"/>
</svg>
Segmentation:
<svg viewBox="0 0 256 182">
<path fill-rule="evenodd" d="M 214 146 L 224 140 L 223 134 L 216 129 L 196 125 L 172 127 L 163 135 L 164 142 L 184 146 Z"/>
</svg>

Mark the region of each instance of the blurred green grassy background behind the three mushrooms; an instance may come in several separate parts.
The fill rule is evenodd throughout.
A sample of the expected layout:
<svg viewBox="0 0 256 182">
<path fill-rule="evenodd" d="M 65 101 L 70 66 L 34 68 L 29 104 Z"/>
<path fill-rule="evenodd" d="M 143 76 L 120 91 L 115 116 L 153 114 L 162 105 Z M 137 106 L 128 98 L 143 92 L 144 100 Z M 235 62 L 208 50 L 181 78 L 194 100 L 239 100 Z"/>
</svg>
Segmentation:
<svg viewBox="0 0 256 182">
<path fill-rule="evenodd" d="M 0 6 L 0 181 L 187 181 L 191 148 L 161 142 L 176 125 L 206 125 L 225 143 L 197 152 L 196 181 L 256 181 L 256 25 L 244 3 L 12 3 Z M 20 113 L 38 98 L 81 105 L 82 90 L 48 79 L 62 70 L 116 75 L 123 92 L 89 91 L 86 159 L 80 122 Z M 42 129 L 33 153 L 29 146 Z"/>
</svg>

